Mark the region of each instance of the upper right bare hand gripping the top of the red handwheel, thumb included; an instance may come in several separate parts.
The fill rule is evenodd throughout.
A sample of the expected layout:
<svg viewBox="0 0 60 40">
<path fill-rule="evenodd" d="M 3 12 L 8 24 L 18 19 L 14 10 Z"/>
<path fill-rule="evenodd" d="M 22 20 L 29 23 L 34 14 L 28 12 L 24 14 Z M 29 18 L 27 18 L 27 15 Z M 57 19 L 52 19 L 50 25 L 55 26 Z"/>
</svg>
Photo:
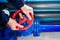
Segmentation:
<svg viewBox="0 0 60 40">
<path fill-rule="evenodd" d="M 31 16 L 29 15 L 29 12 L 31 12 L 32 15 L 33 15 L 33 8 L 32 8 L 32 7 L 29 7 L 29 6 L 27 6 L 27 5 L 24 5 L 24 6 L 21 8 L 21 10 L 23 11 L 24 14 L 27 15 L 27 17 L 28 17 L 30 20 L 32 19 Z M 21 18 L 23 18 L 23 16 L 22 16 L 21 14 L 19 14 L 19 15 L 20 15 Z"/>
</svg>

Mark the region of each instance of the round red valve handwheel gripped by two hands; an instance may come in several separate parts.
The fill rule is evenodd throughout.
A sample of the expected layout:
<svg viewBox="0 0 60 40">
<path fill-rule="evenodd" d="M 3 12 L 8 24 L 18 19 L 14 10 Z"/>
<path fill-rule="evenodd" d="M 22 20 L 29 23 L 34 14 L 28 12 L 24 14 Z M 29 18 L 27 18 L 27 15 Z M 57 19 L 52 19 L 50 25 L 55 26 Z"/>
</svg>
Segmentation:
<svg viewBox="0 0 60 40">
<path fill-rule="evenodd" d="M 16 16 L 17 16 L 19 13 L 23 13 L 23 11 L 22 11 L 22 10 L 17 10 L 17 11 L 12 15 L 12 18 L 15 19 Z M 31 12 L 29 12 L 29 15 L 31 16 L 32 20 L 30 20 L 29 18 L 27 18 L 27 17 L 25 17 L 25 16 L 23 16 L 23 19 L 22 19 L 22 20 L 21 20 L 20 18 L 18 19 L 18 20 L 19 20 L 18 23 L 19 23 L 20 25 L 22 25 L 22 24 L 25 23 L 26 21 L 28 22 L 28 25 L 25 26 L 24 28 L 21 28 L 21 27 L 19 27 L 19 26 L 16 26 L 16 29 L 18 29 L 18 30 L 27 30 L 27 29 L 29 29 L 29 28 L 31 27 L 31 25 L 33 24 L 33 21 L 34 21 L 34 16 L 32 15 Z"/>
</svg>

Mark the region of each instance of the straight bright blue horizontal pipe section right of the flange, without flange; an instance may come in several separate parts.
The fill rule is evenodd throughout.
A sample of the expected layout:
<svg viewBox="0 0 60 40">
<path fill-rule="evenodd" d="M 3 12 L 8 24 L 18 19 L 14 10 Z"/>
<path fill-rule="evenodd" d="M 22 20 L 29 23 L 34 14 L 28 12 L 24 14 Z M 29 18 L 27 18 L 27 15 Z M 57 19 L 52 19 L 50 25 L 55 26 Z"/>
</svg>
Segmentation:
<svg viewBox="0 0 60 40">
<path fill-rule="evenodd" d="M 60 25 L 40 25 L 41 32 L 60 32 Z"/>
</svg>

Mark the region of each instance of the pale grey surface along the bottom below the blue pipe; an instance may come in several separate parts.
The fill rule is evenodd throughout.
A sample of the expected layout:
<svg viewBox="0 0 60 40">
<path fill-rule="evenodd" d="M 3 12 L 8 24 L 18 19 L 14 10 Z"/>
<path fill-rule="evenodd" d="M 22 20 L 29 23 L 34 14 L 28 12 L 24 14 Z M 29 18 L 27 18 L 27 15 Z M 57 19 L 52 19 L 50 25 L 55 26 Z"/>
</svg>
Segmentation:
<svg viewBox="0 0 60 40">
<path fill-rule="evenodd" d="M 17 40 L 60 40 L 60 32 L 44 32 L 39 37 L 33 37 L 33 34 L 24 37 L 17 37 Z"/>
</svg>

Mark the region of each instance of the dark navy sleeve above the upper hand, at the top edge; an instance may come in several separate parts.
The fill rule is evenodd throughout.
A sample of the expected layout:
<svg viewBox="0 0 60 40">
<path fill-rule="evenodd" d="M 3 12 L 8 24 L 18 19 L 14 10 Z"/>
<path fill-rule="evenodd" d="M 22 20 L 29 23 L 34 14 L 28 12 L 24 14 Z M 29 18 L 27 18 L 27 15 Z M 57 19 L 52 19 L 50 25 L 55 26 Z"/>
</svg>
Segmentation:
<svg viewBox="0 0 60 40">
<path fill-rule="evenodd" d="M 8 3 L 10 3 L 12 6 L 20 9 L 22 6 L 24 6 L 24 0 L 7 0 Z"/>
</svg>

